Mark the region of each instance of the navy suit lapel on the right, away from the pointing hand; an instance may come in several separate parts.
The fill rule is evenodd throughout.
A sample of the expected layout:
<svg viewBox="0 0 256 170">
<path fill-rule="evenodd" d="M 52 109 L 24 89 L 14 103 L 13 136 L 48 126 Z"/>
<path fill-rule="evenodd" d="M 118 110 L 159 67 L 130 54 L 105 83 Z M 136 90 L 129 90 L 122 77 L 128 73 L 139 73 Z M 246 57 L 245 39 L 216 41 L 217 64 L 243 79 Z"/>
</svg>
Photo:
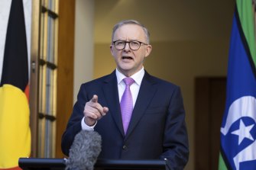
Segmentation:
<svg viewBox="0 0 256 170">
<path fill-rule="evenodd" d="M 134 130 L 134 127 L 136 127 L 143 116 L 144 111 L 146 111 L 148 104 L 150 104 L 151 99 L 154 97 L 154 94 L 157 91 L 157 85 L 155 84 L 156 82 L 154 82 L 151 75 L 145 72 L 125 139 L 127 139 L 132 130 Z"/>
</svg>

